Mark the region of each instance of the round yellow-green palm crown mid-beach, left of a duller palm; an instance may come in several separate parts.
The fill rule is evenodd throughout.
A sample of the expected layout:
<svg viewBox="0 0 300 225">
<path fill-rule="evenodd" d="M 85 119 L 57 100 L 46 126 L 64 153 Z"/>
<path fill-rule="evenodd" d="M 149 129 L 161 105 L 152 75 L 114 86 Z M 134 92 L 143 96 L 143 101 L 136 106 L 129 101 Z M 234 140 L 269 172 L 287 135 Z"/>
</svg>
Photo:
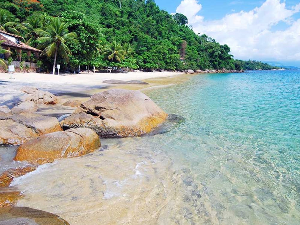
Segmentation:
<svg viewBox="0 0 300 225">
<path fill-rule="evenodd" d="M 103 55 L 111 62 L 121 62 L 121 59 L 125 58 L 125 51 L 123 49 L 123 46 L 119 42 L 113 41 L 112 43 L 108 43 L 105 46 Z"/>
</svg>

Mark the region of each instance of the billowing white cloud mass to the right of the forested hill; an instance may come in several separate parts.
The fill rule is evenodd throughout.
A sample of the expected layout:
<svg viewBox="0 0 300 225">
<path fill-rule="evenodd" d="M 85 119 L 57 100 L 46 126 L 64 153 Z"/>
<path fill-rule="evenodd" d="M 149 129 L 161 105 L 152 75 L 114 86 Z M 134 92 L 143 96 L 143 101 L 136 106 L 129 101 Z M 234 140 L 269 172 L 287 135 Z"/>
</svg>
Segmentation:
<svg viewBox="0 0 300 225">
<path fill-rule="evenodd" d="M 202 5 L 196 0 L 183 0 L 176 12 L 189 19 L 195 33 L 205 33 L 220 44 L 228 44 L 235 58 L 257 60 L 299 60 L 300 3 L 290 9 L 280 0 L 266 0 L 260 7 L 225 15 L 219 20 L 199 16 Z M 276 30 L 280 22 L 285 30 Z"/>
</svg>

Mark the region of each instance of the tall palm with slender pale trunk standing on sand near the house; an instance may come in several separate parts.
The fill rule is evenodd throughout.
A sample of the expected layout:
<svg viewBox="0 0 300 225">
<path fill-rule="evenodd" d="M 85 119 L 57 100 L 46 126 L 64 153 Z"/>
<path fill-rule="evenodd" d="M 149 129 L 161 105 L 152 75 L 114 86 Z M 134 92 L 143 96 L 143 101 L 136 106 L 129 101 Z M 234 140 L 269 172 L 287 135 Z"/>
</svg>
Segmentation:
<svg viewBox="0 0 300 225">
<path fill-rule="evenodd" d="M 44 48 L 43 53 L 48 57 L 54 55 L 52 74 L 55 73 L 55 64 L 57 55 L 69 61 L 71 54 L 70 49 L 65 44 L 66 42 L 76 42 L 77 35 L 75 32 L 68 33 L 67 24 L 61 22 L 59 18 L 53 18 L 46 26 L 46 31 L 39 33 L 42 37 L 38 38 L 41 44 L 38 48 Z"/>
</svg>

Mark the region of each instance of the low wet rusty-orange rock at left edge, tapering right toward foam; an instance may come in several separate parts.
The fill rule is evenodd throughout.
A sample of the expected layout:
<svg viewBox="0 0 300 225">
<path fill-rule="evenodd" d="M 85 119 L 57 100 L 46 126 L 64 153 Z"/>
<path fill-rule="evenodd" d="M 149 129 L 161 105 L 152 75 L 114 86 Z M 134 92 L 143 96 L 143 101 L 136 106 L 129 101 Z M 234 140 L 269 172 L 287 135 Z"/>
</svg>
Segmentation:
<svg viewBox="0 0 300 225">
<path fill-rule="evenodd" d="M 4 171 L 0 175 L 0 187 L 8 187 L 10 183 L 13 181 L 13 179 L 23 176 L 26 173 L 30 173 L 34 170 L 36 170 L 37 167 L 33 165 L 27 165 L 26 167 L 21 168 L 13 168 L 10 170 Z"/>
</svg>

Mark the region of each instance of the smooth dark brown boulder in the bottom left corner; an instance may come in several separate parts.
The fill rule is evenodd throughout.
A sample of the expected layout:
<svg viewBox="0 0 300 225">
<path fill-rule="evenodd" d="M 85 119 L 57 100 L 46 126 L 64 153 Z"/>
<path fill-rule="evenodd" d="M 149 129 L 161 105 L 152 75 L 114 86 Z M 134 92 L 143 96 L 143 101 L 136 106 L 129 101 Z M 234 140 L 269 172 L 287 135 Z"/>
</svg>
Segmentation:
<svg viewBox="0 0 300 225">
<path fill-rule="evenodd" d="M 0 225 L 70 225 L 70 223 L 46 211 L 28 207 L 7 207 L 0 210 Z"/>
</svg>

